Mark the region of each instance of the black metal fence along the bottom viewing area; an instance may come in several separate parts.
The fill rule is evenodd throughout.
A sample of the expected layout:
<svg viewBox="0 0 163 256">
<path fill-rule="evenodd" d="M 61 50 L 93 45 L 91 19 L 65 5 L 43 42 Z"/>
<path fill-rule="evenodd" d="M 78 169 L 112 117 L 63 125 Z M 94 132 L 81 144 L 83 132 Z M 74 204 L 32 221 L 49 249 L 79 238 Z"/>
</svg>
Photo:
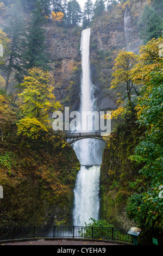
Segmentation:
<svg viewBox="0 0 163 256">
<path fill-rule="evenodd" d="M 133 236 L 128 230 L 116 228 L 75 227 L 73 226 L 46 226 L 46 227 L 14 227 L 0 228 L 0 240 L 27 239 L 37 237 L 72 237 L 86 239 L 116 240 L 133 243 Z M 137 237 L 139 245 L 148 243 L 145 236 Z"/>
</svg>

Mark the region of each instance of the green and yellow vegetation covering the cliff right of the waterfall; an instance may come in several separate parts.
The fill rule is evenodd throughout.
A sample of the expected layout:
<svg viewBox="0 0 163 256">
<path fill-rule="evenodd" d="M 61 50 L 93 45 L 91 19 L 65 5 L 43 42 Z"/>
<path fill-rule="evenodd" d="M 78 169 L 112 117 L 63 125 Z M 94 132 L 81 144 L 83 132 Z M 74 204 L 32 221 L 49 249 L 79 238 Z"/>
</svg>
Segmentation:
<svg viewBox="0 0 163 256">
<path fill-rule="evenodd" d="M 135 102 L 135 117 L 130 98 L 116 109 L 123 124 L 108 139 L 103 156 L 102 184 L 106 202 L 120 214 L 124 204 L 127 215 L 143 231 L 162 233 L 162 38 L 141 46 L 137 63 L 131 66 L 131 81 L 140 88 Z M 120 52 L 119 57 L 122 52 Z M 124 53 L 123 53 L 124 54 Z M 126 53 L 126 56 L 129 53 Z M 124 59 L 121 65 L 125 67 Z M 114 80 L 121 66 L 115 66 Z M 121 76 L 118 76 L 119 78 Z M 129 77 L 129 76 L 128 76 Z M 126 80 L 127 82 L 128 80 Z M 124 81 L 120 80 L 119 84 Z M 128 91 L 127 91 L 128 92 Z M 127 107 L 127 108 L 126 108 Z M 122 108 L 126 108 L 123 112 Z M 119 110 L 120 109 L 120 110 Z M 108 199 L 107 199 L 108 197 Z M 109 204 L 109 203 L 108 203 Z M 109 205 L 107 210 L 109 209 Z M 106 215 L 109 215 L 111 209 Z M 116 210 L 117 209 L 117 210 Z M 104 212 L 103 212 L 104 214 Z M 111 212 L 112 215 L 112 212 Z M 111 220 L 111 216 L 108 216 Z M 118 217 L 117 217 L 118 221 Z M 123 223 L 124 224 L 124 223 Z"/>
</svg>

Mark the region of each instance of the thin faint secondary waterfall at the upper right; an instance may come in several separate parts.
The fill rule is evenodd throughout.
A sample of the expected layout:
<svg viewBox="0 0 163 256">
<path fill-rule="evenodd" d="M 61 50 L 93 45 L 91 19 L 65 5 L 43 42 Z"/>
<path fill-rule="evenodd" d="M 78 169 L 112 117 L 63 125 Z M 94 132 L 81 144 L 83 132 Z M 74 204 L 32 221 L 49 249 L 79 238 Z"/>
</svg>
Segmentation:
<svg viewBox="0 0 163 256">
<path fill-rule="evenodd" d="M 129 52 L 130 51 L 130 42 L 131 42 L 131 16 L 129 13 L 129 8 L 127 7 L 125 13 L 124 13 L 124 32 L 126 36 L 126 50 Z"/>
</svg>

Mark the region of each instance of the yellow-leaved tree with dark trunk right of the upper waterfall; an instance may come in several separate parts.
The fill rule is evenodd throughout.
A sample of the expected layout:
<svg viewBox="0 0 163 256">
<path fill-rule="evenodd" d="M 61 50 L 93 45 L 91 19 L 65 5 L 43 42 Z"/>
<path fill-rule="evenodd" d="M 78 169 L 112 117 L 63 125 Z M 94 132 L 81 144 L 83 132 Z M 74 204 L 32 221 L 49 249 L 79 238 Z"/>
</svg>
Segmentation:
<svg viewBox="0 0 163 256">
<path fill-rule="evenodd" d="M 111 84 L 111 89 L 118 90 L 117 95 L 119 99 L 117 100 L 118 108 L 112 111 L 112 118 L 117 119 L 119 115 L 125 117 L 126 114 L 132 115 L 133 101 L 135 97 L 134 94 L 139 95 L 139 89 L 136 86 L 133 79 L 133 68 L 137 63 L 138 56 L 133 52 L 120 51 L 115 59 L 114 72 L 112 76 L 114 77 Z M 127 95 L 127 96 L 126 96 Z M 127 101 L 125 103 L 125 101 Z"/>
</svg>

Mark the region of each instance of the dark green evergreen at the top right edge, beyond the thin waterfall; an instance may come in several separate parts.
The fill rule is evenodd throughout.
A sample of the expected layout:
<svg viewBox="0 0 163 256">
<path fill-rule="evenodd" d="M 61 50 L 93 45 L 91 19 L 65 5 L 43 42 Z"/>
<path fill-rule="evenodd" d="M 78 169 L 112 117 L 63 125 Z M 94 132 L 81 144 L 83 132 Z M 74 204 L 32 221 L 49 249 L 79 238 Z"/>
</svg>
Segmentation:
<svg viewBox="0 0 163 256">
<path fill-rule="evenodd" d="M 151 39 L 158 39 L 162 34 L 163 19 L 157 11 L 148 5 L 145 7 L 142 22 L 140 23 L 140 38 L 146 44 Z"/>
</svg>

